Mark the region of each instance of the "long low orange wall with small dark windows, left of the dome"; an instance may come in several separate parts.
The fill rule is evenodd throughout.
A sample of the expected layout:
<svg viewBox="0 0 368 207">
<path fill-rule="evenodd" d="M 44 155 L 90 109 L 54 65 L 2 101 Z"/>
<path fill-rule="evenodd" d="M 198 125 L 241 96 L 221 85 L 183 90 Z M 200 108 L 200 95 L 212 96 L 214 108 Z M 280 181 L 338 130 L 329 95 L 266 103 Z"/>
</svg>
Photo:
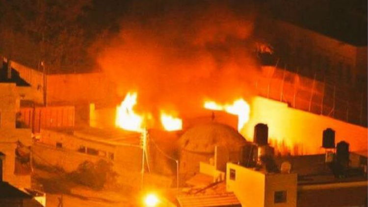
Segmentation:
<svg viewBox="0 0 368 207">
<path fill-rule="evenodd" d="M 56 143 L 61 143 L 62 147 L 57 148 Z M 98 150 L 99 153 L 90 155 L 79 152 L 80 146 Z M 41 139 L 34 143 L 33 151 L 35 162 L 58 166 L 67 172 L 76 170 L 86 160 L 97 162 L 104 159 L 113 164 L 118 183 L 139 187 L 141 181 L 142 150 L 138 147 L 42 129 Z"/>
</svg>

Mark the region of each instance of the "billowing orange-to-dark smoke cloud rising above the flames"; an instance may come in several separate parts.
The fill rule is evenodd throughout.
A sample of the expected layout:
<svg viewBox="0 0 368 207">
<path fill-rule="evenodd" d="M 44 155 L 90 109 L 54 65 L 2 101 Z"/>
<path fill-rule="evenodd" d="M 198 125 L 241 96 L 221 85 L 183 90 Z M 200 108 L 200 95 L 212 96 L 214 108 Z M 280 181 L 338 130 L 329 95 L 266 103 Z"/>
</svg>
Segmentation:
<svg viewBox="0 0 368 207">
<path fill-rule="evenodd" d="M 98 56 L 119 96 L 137 91 L 144 110 L 187 113 L 206 98 L 226 102 L 251 95 L 258 68 L 253 15 L 212 1 L 145 12 L 128 15 Z"/>
</svg>

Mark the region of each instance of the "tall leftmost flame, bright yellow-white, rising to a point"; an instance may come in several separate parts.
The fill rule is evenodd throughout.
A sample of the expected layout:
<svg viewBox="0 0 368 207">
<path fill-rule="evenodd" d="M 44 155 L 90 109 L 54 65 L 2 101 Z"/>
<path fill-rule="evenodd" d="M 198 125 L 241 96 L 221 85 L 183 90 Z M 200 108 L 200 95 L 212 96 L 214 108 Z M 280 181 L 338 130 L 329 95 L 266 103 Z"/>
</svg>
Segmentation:
<svg viewBox="0 0 368 207">
<path fill-rule="evenodd" d="M 143 116 L 134 112 L 137 103 L 137 93 L 128 93 L 120 105 L 116 107 L 115 125 L 130 131 L 143 131 Z"/>
</svg>

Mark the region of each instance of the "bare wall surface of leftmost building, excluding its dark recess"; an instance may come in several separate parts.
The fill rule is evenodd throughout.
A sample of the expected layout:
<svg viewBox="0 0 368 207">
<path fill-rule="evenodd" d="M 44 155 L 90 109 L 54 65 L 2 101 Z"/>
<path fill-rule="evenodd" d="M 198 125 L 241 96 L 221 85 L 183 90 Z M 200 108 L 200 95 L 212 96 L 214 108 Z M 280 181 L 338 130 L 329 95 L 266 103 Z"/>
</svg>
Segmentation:
<svg viewBox="0 0 368 207">
<path fill-rule="evenodd" d="M 0 83 L 0 152 L 5 154 L 3 180 L 16 187 L 30 187 L 30 175 L 15 175 L 16 142 L 32 144 L 30 129 L 17 129 L 15 114 L 19 109 L 17 87 L 13 83 Z"/>
</svg>

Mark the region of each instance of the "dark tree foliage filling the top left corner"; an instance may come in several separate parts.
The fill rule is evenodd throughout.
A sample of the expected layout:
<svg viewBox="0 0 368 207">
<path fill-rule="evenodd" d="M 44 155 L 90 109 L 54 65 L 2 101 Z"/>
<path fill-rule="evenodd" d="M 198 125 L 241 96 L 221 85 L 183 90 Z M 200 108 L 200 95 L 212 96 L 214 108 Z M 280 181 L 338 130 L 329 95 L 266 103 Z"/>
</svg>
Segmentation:
<svg viewBox="0 0 368 207">
<path fill-rule="evenodd" d="M 90 0 L 0 0 L 0 52 L 49 73 L 75 72 L 88 61 L 85 26 Z"/>
</svg>

